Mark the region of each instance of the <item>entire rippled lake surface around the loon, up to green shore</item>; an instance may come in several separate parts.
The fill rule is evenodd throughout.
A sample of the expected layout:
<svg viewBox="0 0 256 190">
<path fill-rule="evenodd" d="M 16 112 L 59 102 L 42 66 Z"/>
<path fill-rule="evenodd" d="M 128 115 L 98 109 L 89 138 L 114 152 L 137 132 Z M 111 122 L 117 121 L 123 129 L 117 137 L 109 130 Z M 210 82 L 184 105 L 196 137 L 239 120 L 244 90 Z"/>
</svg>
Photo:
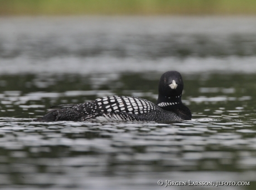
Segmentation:
<svg viewBox="0 0 256 190">
<path fill-rule="evenodd" d="M 0 188 L 256 188 L 255 17 L 0 18 L 0 27 Z M 168 70 L 183 76 L 191 121 L 33 121 L 102 96 L 156 102 Z"/>
</svg>

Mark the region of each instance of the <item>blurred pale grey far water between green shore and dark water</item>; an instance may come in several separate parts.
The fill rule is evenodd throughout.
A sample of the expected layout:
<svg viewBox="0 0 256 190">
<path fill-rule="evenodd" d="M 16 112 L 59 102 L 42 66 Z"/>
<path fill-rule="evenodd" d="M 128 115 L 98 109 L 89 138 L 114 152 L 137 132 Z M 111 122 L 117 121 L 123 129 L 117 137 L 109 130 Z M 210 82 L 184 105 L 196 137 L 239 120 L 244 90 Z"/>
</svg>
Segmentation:
<svg viewBox="0 0 256 190">
<path fill-rule="evenodd" d="M 1 74 L 256 71 L 255 17 L 0 18 L 0 26 Z"/>
</svg>

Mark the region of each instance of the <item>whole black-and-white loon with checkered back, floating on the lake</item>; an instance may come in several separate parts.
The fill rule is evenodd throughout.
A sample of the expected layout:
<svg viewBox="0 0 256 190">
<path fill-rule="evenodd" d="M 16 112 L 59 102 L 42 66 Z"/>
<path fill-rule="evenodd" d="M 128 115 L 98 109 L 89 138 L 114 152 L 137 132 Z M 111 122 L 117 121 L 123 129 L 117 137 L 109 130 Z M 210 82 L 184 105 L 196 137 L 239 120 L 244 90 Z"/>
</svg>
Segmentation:
<svg viewBox="0 0 256 190">
<path fill-rule="evenodd" d="M 65 104 L 35 121 L 182 121 L 191 111 L 181 101 L 183 79 L 178 71 L 167 71 L 159 81 L 156 105 L 140 97 L 105 96 L 82 104 Z"/>
</svg>

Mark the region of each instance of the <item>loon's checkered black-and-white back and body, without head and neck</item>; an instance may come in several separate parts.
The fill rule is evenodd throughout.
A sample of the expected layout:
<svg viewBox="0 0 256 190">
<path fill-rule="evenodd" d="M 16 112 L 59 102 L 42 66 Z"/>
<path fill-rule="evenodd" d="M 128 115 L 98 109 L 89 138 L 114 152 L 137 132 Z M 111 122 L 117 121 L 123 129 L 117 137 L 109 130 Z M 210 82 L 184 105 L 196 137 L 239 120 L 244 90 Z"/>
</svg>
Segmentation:
<svg viewBox="0 0 256 190">
<path fill-rule="evenodd" d="M 140 97 L 107 96 L 83 104 L 56 106 L 37 121 L 173 121 L 184 120 Z"/>
</svg>

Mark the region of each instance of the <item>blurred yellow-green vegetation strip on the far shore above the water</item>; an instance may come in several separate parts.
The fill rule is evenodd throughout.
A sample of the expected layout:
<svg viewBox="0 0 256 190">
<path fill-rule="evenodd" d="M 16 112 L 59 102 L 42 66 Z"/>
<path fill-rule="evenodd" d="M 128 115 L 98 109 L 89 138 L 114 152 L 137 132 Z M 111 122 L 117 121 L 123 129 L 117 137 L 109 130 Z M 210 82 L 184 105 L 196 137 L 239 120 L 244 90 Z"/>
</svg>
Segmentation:
<svg viewBox="0 0 256 190">
<path fill-rule="evenodd" d="M 255 0 L 0 0 L 2 16 L 255 13 Z"/>
</svg>

